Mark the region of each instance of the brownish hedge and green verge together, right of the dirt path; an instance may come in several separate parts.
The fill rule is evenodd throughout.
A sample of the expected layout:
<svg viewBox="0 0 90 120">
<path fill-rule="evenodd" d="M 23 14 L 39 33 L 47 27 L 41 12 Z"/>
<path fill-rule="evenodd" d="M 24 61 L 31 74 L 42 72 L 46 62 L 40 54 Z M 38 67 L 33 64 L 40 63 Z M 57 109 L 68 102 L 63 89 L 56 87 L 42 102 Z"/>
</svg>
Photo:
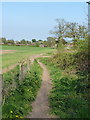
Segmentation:
<svg viewBox="0 0 90 120">
<path fill-rule="evenodd" d="M 48 66 L 53 82 L 49 96 L 51 113 L 60 118 L 90 118 L 86 44 L 87 41 L 79 41 L 67 52 L 60 49 L 53 58 L 41 59 Z"/>
</svg>

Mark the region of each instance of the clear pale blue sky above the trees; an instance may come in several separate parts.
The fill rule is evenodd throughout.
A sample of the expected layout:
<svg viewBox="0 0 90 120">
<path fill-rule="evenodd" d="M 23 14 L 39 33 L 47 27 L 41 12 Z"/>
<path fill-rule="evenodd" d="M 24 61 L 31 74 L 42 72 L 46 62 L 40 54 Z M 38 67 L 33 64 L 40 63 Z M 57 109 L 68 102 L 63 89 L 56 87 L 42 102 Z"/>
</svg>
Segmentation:
<svg viewBox="0 0 90 120">
<path fill-rule="evenodd" d="M 83 24 L 87 22 L 86 16 L 85 2 L 4 2 L 2 36 L 14 40 L 46 40 L 57 24 L 56 18 Z"/>
</svg>

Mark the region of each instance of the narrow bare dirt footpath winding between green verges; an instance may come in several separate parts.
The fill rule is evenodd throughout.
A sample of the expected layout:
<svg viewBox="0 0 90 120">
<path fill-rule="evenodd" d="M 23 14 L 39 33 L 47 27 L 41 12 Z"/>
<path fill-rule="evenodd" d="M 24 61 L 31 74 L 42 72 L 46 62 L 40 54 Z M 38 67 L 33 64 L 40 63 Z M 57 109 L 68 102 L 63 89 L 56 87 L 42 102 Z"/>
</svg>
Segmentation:
<svg viewBox="0 0 90 120">
<path fill-rule="evenodd" d="M 49 72 L 44 64 L 39 61 L 38 63 L 43 69 L 42 85 L 36 100 L 32 104 L 33 110 L 27 118 L 53 118 L 53 116 L 49 115 L 48 95 L 52 88 Z"/>
</svg>

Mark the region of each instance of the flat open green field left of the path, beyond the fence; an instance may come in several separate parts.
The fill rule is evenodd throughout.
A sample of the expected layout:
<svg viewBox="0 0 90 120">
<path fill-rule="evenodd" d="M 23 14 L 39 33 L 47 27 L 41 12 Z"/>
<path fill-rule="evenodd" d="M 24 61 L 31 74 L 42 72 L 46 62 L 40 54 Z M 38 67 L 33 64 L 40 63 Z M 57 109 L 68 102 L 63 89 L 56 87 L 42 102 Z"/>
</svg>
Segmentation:
<svg viewBox="0 0 90 120">
<path fill-rule="evenodd" d="M 1 49 L 1 47 L 0 47 Z M 30 47 L 30 46 L 2 46 L 2 50 L 16 50 L 14 53 L 3 54 L 2 57 L 2 68 L 7 68 L 10 65 L 16 64 L 23 59 L 27 59 L 31 55 L 40 53 L 50 53 L 55 51 L 51 48 L 41 47 Z"/>
</svg>

